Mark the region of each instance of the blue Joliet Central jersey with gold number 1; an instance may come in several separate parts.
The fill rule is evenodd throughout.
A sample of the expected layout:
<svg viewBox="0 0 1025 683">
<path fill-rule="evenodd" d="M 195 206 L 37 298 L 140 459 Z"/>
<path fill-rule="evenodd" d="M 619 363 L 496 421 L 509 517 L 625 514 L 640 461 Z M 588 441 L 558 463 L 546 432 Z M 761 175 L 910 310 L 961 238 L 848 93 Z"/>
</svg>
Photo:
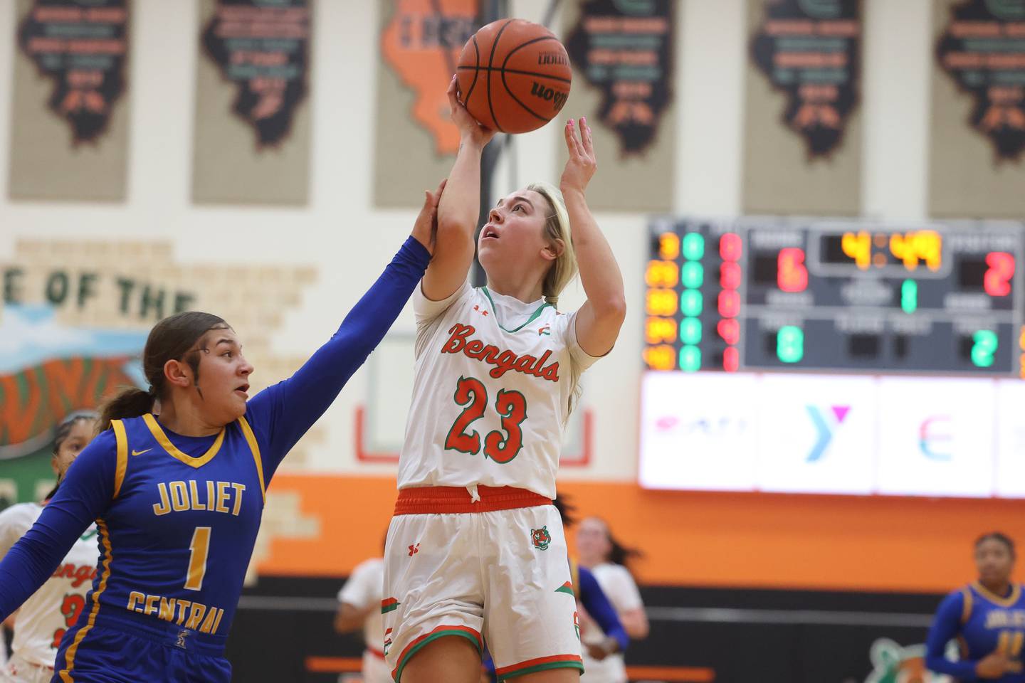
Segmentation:
<svg viewBox="0 0 1025 683">
<path fill-rule="evenodd" d="M 114 500 L 96 520 L 100 570 L 76 637 L 97 618 L 126 612 L 179 627 L 187 641 L 227 634 L 263 511 L 263 467 L 249 423 L 228 425 L 198 456 L 179 450 L 150 414 L 111 427 Z"/>
</svg>

